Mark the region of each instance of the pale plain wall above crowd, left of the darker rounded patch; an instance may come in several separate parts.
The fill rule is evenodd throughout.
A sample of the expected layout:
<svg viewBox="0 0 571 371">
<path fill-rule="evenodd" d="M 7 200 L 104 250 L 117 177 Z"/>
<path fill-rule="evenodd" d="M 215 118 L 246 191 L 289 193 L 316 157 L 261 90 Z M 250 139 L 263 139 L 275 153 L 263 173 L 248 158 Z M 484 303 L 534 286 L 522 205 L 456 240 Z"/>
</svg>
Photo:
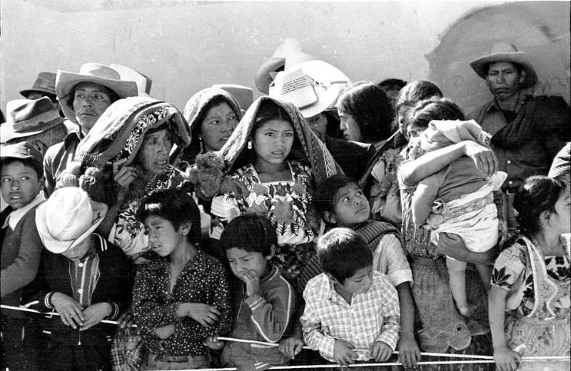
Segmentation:
<svg viewBox="0 0 571 371">
<path fill-rule="evenodd" d="M 252 86 L 284 38 L 353 81 L 428 78 L 425 55 L 470 11 L 502 1 L 0 0 L 0 105 L 39 71 L 121 63 L 183 108 L 213 83 Z M 256 89 L 255 89 L 256 91 Z M 256 91 L 256 93 L 259 93 Z"/>
</svg>

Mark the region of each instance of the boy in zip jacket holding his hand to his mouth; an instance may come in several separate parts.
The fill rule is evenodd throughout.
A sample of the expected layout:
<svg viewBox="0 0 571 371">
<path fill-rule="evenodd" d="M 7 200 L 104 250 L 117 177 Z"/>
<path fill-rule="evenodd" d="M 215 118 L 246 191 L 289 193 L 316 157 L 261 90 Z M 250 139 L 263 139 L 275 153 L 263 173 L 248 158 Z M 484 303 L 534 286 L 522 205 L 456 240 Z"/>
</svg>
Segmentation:
<svg viewBox="0 0 571 371">
<path fill-rule="evenodd" d="M 231 337 L 279 342 L 289 330 L 296 303 L 293 286 L 270 264 L 278 245 L 276 229 L 263 216 L 242 215 L 228 223 L 220 242 L 238 278 L 231 280 Z M 288 357 L 278 347 L 227 342 L 222 362 L 239 371 L 266 370 L 284 365 Z"/>
</svg>

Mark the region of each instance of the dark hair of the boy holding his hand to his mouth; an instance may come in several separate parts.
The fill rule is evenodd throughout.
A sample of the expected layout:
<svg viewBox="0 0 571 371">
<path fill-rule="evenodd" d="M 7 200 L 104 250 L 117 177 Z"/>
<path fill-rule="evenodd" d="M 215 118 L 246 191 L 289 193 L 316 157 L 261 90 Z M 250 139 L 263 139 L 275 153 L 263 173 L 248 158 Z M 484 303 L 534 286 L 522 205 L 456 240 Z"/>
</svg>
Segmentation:
<svg viewBox="0 0 571 371">
<path fill-rule="evenodd" d="M 268 218 L 261 215 L 241 215 L 234 218 L 220 237 L 224 250 L 239 248 L 249 253 L 271 254 L 272 245 L 278 245 L 276 228 Z"/>
</svg>

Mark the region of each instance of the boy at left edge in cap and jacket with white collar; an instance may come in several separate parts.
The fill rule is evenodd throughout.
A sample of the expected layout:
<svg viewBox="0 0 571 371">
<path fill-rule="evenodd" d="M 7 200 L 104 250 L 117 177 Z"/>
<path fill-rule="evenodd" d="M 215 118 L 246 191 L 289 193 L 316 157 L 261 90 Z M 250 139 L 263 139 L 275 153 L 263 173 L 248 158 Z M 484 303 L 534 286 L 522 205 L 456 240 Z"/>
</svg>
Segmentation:
<svg viewBox="0 0 571 371">
<path fill-rule="evenodd" d="M 44 200 L 41 153 L 28 142 L 0 148 L 2 198 L 8 207 L 1 213 L 0 303 L 20 305 L 22 290 L 36 278 L 41 244 L 36 229 L 36 206 Z M 10 370 L 34 370 L 34 330 L 30 318 L 2 310 L 2 354 Z M 24 336 L 22 336 L 24 334 Z"/>
</svg>

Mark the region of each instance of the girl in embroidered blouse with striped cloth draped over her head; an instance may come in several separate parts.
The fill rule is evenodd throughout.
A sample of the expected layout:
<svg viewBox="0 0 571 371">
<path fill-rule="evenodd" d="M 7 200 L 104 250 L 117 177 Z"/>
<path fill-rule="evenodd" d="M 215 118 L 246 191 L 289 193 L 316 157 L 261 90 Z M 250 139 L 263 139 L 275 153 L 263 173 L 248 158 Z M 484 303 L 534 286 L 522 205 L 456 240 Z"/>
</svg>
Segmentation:
<svg viewBox="0 0 571 371">
<path fill-rule="evenodd" d="M 226 220 L 266 215 L 278 234 L 274 263 L 295 278 L 315 250 L 313 185 L 338 171 L 333 157 L 295 106 L 270 97 L 248 108 L 221 156 L 245 191 L 214 198 L 211 212 Z"/>
</svg>

